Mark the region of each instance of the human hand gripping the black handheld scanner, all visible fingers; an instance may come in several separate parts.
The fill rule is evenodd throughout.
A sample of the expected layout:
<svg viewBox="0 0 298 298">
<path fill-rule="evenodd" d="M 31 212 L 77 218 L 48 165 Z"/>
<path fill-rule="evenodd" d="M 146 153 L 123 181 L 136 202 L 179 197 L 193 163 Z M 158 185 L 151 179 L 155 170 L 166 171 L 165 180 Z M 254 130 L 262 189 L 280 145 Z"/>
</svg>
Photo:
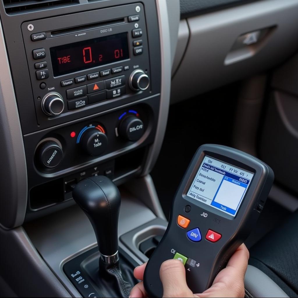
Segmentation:
<svg viewBox="0 0 298 298">
<path fill-rule="evenodd" d="M 212 286 L 201 294 L 194 294 L 188 288 L 183 264 L 179 260 L 167 260 L 162 263 L 159 271 L 164 288 L 163 297 L 244 297 L 244 275 L 248 259 L 248 249 L 242 244 L 232 255 L 226 268 L 215 277 Z M 137 279 L 143 280 L 146 264 L 134 269 Z M 130 297 L 147 297 L 142 281 L 132 288 Z"/>
</svg>

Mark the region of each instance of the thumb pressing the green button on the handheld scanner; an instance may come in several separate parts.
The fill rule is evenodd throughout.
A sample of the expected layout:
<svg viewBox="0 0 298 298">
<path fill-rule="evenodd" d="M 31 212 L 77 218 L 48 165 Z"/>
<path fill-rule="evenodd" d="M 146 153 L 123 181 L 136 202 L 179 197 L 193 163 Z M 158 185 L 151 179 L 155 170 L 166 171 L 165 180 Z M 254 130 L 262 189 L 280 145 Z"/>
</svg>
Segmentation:
<svg viewBox="0 0 298 298">
<path fill-rule="evenodd" d="M 164 288 L 163 297 L 193 297 L 193 292 L 187 286 L 185 268 L 181 261 L 163 262 L 159 275 Z"/>
</svg>

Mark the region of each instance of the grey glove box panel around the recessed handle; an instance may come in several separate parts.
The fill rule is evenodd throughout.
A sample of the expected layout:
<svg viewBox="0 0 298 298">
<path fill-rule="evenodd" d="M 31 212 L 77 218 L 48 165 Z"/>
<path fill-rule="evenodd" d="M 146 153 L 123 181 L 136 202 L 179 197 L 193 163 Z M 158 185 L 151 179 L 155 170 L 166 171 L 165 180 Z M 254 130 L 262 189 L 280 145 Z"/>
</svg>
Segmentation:
<svg viewBox="0 0 298 298">
<path fill-rule="evenodd" d="M 293 38 L 298 34 L 297 13 L 297 0 L 263 0 L 185 19 L 188 30 L 179 30 L 179 38 L 183 37 L 184 42 L 179 40 L 176 49 L 174 61 L 175 65 L 179 61 L 179 67 L 172 77 L 171 103 L 282 63 L 298 48 L 298 40 Z M 180 24 L 185 25 L 184 20 Z M 249 57 L 239 55 L 239 60 L 226 63 L 238 37 L 262 29 L 270 33 L 255 46 L 248 47 Z M 187 35 L 187 47 L 183 50 Z"/>
</svg>

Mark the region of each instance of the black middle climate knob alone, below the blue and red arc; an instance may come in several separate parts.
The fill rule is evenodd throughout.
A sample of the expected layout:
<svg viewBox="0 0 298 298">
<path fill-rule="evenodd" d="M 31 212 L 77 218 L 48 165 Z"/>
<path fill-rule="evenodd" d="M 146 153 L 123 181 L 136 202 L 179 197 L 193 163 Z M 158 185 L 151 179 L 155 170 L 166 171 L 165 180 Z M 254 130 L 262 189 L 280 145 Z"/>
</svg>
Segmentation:
<svg viewBox="0 0 298 298">
<path fill-rule="evenodd" d="M 103 154 L 108 147 L 108 137 L 97 128 L 90 128 L 83 134 L 81 144 L 89 155 Z"/>
</svg>

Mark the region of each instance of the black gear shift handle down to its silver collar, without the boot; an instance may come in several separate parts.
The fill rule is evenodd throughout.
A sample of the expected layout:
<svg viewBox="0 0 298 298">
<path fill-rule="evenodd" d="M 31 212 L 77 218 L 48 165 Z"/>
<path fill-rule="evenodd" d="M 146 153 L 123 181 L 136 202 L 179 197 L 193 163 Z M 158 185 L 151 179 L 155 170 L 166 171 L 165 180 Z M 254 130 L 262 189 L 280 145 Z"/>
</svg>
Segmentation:
<svg viewBox="0 0 298 298">
<path fill-rule="evenodd" d="M 80 181 L 72 194 L 93 226 L 101 260 L 106 264 L 117 263 L 121 203 L 117 186 L 105 176 L 95 176 Z"/>
</svg>

